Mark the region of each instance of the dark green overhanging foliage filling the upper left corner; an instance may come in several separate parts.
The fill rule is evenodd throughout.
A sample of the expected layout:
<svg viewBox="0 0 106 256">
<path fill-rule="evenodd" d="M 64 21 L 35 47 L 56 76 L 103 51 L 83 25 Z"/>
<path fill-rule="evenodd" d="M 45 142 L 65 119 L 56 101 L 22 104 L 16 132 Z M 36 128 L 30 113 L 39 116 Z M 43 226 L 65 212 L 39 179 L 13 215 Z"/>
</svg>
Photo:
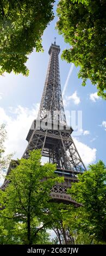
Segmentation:
<svg viewBox="0 0 106 256">
<path fill-rule="evenodd" d="M 28 55 L 42 50 L 41 36 L 53 19 L 54 0 L 0 1 L 0 74 L 28 75 Z"/>
</svg>

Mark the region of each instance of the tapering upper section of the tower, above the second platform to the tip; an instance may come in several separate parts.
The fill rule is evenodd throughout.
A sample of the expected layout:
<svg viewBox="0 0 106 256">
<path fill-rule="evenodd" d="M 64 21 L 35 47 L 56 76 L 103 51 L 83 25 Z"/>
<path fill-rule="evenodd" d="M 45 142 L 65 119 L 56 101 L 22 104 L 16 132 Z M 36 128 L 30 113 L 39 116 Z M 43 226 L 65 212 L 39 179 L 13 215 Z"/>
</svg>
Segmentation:
<svg viewBox="0 0 106 256">
<path fill-rule="evenodd" d="M 59 71 L 60 46 L 52 44 L 49 47 L 49 63 L 46 74 L 45 86 L 40 103 L 38 119 L 47 118 L 48 122 L 66 125 L 66 117 L 61 94 Z"/>
</svg>

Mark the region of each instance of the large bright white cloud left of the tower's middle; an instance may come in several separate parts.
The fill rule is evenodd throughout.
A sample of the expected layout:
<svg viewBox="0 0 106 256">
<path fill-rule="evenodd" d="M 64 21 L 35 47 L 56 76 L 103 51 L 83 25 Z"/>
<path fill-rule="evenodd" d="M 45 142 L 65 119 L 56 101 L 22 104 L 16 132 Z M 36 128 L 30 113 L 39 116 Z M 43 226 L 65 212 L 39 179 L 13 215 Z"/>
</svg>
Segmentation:
<svg viewBox="0 0 106 256">
<path fill-rule="evenodd" d="M 33 120 L 38 114 L 39 104 L 32 109 L 18 106 L 10 108 L 9 115 L 0 108 L 0 123 L 6 124 L 8 140 L 5 142 L 5 154 L 16 152 L 14 159 L 22 157 L 27 147 L 27 133 L 32 125 Z"/>
</svg>

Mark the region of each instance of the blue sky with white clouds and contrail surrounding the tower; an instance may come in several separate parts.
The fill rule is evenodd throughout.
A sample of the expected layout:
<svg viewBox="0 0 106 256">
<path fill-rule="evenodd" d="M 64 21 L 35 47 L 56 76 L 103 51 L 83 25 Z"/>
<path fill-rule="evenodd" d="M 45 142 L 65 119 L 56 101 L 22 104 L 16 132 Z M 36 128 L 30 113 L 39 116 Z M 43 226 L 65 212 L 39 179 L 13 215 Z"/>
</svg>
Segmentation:
<svg viewBox="0 0 106 256">
<path fill-rule="evenodd" d="M 57 17 L 43 33 L 44 52 L 37 53 L 34 50 L 30 54 L 26 64 L 30 70 L 28 77 L 15 75 L 13 72 L 0 76 L 0 124 L 6 124 L 8 135 L 5 153 L 14 153 L 14 159 L 21 158 L 27 147 L 27 133 L 38 113 L 45 83 L 48 50 L 56 37 L 57 45 L 60 45 L 61 49 L 59 64 L 64 108 L 66 112 L 76 113 L 77 126 L 78 122 L 82 124 L 79 125 L 79 132 L 76 132 L 78 129 L 75 125 L 75 131 L 72 133 L 74 142 L 86 167 L 99 159 L 106 164 L 105 101 L 98 97 L 96 86 L 89 80 L 86 87 L 82 87 L 82 80 L 78 78 L 79 68 L 61 60 L 62 51 L 70 46 L 65 44 L 63 36 L 55 30 L 56 22 Z"/>
</svg>

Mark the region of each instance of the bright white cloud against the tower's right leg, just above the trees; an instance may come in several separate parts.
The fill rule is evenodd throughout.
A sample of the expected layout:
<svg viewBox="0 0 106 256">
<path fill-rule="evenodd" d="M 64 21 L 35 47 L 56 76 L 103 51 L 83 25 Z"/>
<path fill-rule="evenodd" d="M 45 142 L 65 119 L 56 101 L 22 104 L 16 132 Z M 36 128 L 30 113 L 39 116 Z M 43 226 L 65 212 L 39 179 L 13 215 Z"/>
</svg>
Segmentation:
<svg viewBox="0 0 106 256">
<path fill-rule="evenodd" d="M 73 138 L 73 141 L 85 166 L 88 166 L 90 163 L 94 163 L 96 160 L 97 150 L 95 148 L 91 149 L 88 145 L 79 142 L 76 138 Z"/>
</svg>

